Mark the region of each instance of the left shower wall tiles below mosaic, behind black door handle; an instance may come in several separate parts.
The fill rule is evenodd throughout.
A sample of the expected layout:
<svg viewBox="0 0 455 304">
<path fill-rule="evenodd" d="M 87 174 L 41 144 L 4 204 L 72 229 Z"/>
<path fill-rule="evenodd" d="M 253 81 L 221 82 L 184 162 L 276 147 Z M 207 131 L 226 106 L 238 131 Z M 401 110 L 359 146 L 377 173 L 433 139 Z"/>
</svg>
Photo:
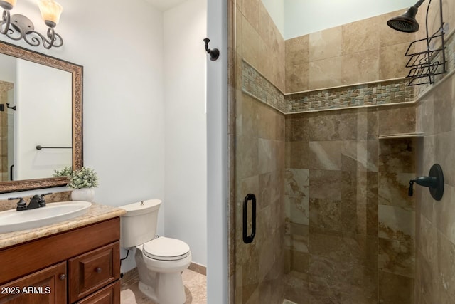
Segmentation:
<svg viewBox="0 0 455 304">
<path fill-rule="evenodd" d="M 235 303 L 280 303 L 284 261 L 284 115 L 253 98 L 242 100 L 235 147 Z M 246 194 L 257 199 L 256 236 L 242 241 Z M 248 206 L 249 214 L 251 202 Z M 247 234 L 252 231 L 248 217 Z"/>
</svg>

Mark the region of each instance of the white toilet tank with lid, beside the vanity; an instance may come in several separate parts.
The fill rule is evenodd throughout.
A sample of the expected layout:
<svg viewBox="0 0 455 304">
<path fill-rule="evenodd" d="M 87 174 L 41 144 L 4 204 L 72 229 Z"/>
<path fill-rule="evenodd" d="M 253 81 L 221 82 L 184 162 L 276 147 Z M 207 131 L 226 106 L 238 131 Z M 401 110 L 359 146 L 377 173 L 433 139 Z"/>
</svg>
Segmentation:
<svg viewBox="0 0 455 304">
<path fill-rule="evenodd" d="M 120 216 L 120 246 L 139 246 L 154 239 L 158 221 L 159 199 L 148 199 L 133 204 L 119 206 L 126 214 Z"/>
</svg>

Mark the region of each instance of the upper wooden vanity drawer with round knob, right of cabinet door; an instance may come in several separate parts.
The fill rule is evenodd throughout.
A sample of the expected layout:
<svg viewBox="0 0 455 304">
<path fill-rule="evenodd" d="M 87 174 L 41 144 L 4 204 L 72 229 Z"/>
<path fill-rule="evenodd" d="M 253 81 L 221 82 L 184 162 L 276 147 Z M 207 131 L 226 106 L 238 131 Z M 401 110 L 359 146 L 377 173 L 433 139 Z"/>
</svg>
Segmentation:
<svg viewBox="0 0 455 304">
<path fill-rule="evenodd" d="M 120 278 L 119 242 L 68 260 L 70 303 Z"/>
</svg>

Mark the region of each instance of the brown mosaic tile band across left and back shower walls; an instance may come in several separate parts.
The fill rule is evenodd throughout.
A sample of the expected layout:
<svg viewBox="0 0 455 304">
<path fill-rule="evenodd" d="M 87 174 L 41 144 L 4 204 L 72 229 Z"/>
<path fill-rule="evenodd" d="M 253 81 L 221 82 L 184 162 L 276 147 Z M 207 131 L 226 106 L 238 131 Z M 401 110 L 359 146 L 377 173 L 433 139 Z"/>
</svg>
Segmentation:
<svg viewBox="0 0 455 304">
<path fill-rule="evenodd" d="M 284 114 L 405 103 L 415 98 L 414 87 L 408 87 L 404 79 L 284 95 L 245 61 L 242 61 L 242 91 Z"/>
</svg>

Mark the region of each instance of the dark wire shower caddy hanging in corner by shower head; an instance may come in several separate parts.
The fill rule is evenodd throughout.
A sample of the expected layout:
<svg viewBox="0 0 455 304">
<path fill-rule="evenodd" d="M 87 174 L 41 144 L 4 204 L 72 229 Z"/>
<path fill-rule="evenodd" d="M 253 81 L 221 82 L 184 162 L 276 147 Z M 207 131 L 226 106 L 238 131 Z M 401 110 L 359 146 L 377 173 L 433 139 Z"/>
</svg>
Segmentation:
<svg viewBox="0 0 455 304">
<path fill-rule="evenodd" d="M 428 34 L 428 11 L 432 1 L 429 1 L 427 7 L 427 16 L 425 19 L 425 28 L 427 31 L 427 38 L 413 41 L 407 48 L 406 56 L 410 57 L 407 61 L 406 67 L 411 68 L 406 78 L 410 79 L 408 85 L 424 85 L 433 84 L 434 76 L 446 73 L 446 54 L 444 44 L 444 34 L 446 28 L 442 19 L 442 0 L 439 0 L 439 16 L 441 26 L 432 35 Z M 421 45 L 424 44 L 422 47 Z M 415 49 L 422 49 L 425 51 L 413 52 Z"/>
</svg>

